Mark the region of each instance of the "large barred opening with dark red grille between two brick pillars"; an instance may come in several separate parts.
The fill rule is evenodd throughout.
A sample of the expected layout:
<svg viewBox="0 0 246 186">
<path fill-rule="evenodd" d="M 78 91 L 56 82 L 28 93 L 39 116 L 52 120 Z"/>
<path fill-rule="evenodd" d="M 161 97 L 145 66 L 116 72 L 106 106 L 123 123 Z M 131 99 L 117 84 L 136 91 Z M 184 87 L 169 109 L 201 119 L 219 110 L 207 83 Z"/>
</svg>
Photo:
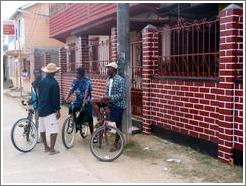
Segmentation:
<svg viewBox="0 0 246 186">
<path fill-rule="evenodd" d="M 218 77 L 219 21 L 176 25 L 160 31 L 162 49 L 157 73 L 168 77 Z M 164 45 L 164 46 L 163 46 Z"/>
</svg>

